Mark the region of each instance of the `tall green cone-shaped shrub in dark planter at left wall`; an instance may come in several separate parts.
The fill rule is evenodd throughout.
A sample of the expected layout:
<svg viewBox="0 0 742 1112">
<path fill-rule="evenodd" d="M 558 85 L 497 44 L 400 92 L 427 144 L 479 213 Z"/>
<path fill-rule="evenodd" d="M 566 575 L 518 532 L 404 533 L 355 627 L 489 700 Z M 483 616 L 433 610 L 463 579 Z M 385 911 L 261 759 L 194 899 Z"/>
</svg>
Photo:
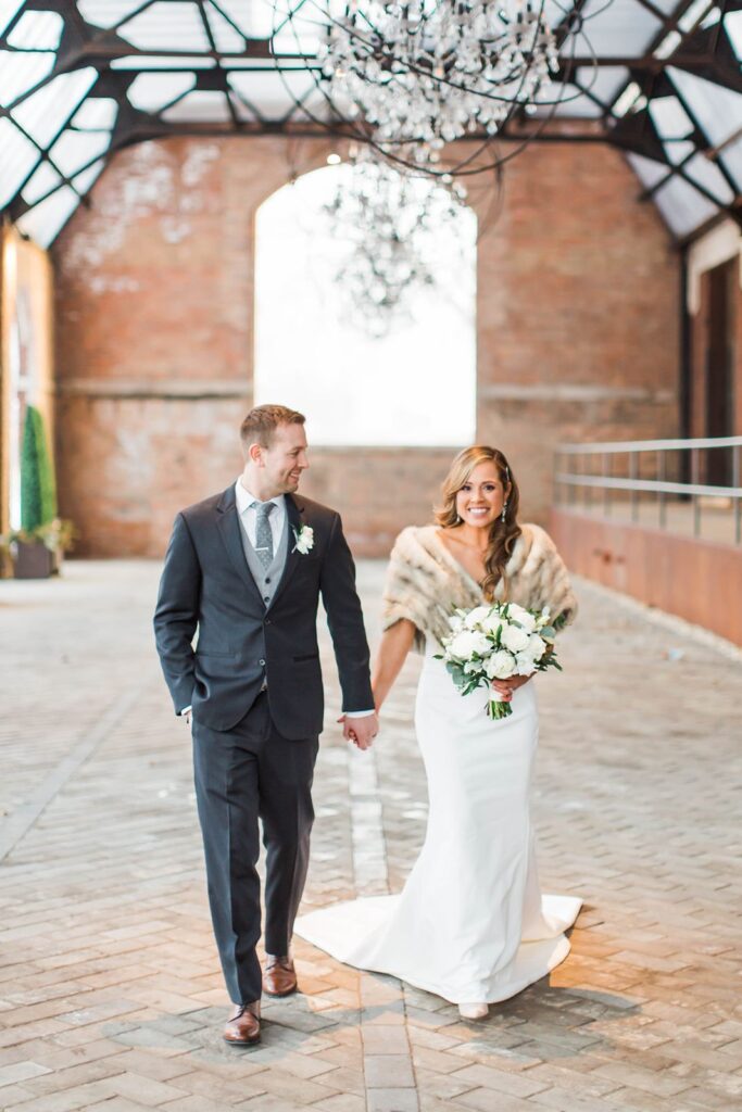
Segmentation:
<svg viewBox="0 0 742 1112">
<path fill-rule="evenodd" d="M 58 573 L 72 547 L 73 528 L 57 515 L 57 487 L 43 418 L 27 406 L 21 447 L 21 527 L 0 538 L 10 550 L 17 579 L 44 579 Z"/>
</svg>

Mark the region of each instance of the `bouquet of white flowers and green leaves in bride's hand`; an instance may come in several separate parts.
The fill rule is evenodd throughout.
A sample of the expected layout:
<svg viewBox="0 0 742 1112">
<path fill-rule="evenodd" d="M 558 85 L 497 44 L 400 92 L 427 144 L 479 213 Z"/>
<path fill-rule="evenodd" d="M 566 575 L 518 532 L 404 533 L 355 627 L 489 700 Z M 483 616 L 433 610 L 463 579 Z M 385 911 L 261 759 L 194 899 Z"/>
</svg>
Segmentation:
<svg viewBox="0 0 742 1112">
<path fill-rule="evenodd" d="M 493 679 L 530 676 L 532 672 L 558 668 L 554 655 L 554 637 L 561 624 L 551 622 L 548 607 L 527 610 L 517 603 L 493 603 L 473 610 L 456 610 L 448 618 L 451 634 L 442 638 L 443 653 L 454 684 L 462 695 L 476 687 L 489 687 Z M 509 703 L 491 698 L 491 718 L 506 718 L 513 711 Z"/>
</svg>

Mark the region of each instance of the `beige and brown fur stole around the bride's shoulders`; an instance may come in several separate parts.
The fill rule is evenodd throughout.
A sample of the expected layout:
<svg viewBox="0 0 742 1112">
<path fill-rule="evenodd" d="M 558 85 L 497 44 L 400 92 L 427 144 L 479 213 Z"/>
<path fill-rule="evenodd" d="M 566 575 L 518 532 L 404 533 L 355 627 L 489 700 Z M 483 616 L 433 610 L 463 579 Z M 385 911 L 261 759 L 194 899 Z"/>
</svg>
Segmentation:
<svg viewBox="0 0 742 1112">
<path fill-rule="evenodd" d="M 528 609 L 551 607 L 552 618 L 574 620 L 577 602 L 562 557 L 538 525 L 523 525 L 523 533 L 505 568 L 505 582 L 495 599 L 520 603 Z M 437 526 L 410 525 L 397 537 L 387 570 L 382 624 L 388 629 L 400 618 L 417 627 L 415 648 L 422 652 L 425 635 L 441 641 L 448 633 L 448 617 L 457 608 L 483 603 L 482 589 L 458 564 L 438 536 Z"/>
</svg>

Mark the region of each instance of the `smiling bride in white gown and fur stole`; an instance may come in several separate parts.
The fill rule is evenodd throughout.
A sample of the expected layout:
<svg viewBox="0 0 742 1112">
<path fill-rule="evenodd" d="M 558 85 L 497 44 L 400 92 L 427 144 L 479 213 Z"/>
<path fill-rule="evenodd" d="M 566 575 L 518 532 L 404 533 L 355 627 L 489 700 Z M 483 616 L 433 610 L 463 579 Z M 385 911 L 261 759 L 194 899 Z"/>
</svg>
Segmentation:
<svg viewBox="0 0 742 1112">
<path fill-rule="evenodd" d="M 528 795 L 538 736 L 532 676 L 494 681 L 507 718 L 485 714 L 485 688 L 462 696 L 435 658 L 456 607 L 487 600 L 548 606 L 574 618 L 576 602 L 551 538 L 518 525 L 518 488 L 505 456 L 472 447 L 454 459 L 437 525 L 408 527 L 394 546 L 384 636 L 374 671 L 377 709 L 405 657 L 424 654 L 415 726 L 425 763 L 425 844 L 403 892 L 303 916 L 296 932 L 342 962 L 388 973 L 458 1004 L 466 1019 L 506 1000 L 562 962 L 571 896 L 542 895 Z"/>
</svg>

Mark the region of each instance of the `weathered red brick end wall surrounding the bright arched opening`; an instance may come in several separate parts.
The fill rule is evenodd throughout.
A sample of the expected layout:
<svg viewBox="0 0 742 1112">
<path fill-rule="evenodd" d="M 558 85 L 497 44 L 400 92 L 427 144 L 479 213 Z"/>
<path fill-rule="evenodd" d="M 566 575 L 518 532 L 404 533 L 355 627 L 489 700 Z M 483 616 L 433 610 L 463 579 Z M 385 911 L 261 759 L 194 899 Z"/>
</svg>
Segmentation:
<svg viewBox="0 0 742 1112">
<path fill-rule="evenodd" d="M 79 553 L 160 555 L 174 513 L 237 474 L 255 211 L 327 149 L 133 147 L 57 241 L 59 486 Z M 679 264 L 637 193 L 616 151 L 544 143 L 509 165 L 503 215 L 481 238 L 477 438 L 511 456 L 525 517 L 546 518 L 560 440 L 677 430 Z M 359 554 L 382 554 L 429 518 L 452 455 L 317 449 L 304 489 L 343 512 Z"/>
</svg>

